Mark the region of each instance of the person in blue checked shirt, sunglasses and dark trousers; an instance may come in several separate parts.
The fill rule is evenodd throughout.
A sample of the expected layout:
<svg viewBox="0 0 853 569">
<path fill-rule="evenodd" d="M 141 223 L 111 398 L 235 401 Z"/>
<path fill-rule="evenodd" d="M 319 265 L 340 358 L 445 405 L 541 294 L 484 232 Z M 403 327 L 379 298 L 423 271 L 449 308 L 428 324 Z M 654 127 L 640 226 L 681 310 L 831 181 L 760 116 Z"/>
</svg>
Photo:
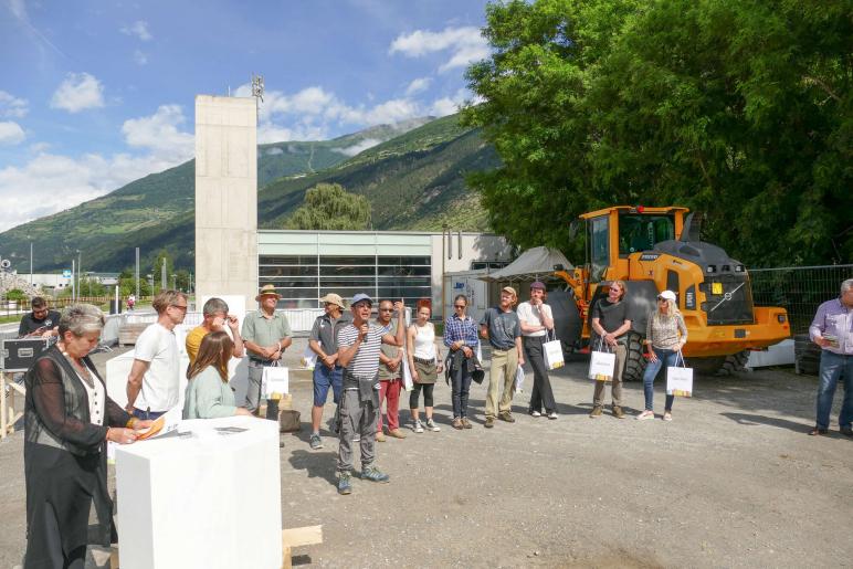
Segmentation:
<svg viewBox="0 0 853 569">
<path fill-rule="evenodd" d="M 468 392 L 480 338 L 477 323 L 466 314 L 468 299 L 460 294 L 453 299 L 453 314 L 444 320 L 444 346 L 450 349 L 447 366 L 453 390 L 453 429 L 472 429 L 468 421 Z"/>
</svg>

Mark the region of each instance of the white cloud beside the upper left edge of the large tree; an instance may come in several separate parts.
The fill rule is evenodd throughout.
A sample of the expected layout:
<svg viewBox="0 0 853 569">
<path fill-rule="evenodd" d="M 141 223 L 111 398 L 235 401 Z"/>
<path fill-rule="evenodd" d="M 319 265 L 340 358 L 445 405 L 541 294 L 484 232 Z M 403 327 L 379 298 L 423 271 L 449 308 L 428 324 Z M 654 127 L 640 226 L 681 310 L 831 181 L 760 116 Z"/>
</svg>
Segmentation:
<svg viewBox="0 0 853 569">
<path fill-rule="evenodd" d="M 421 57 L 429 53 L 451 51 L 451 57 L 440 67 L 445 72 L 463 67 L 472 62 L 485 59 L 489 54 L 488 43 L 478 28 L 445 28 L 441 32 L 415 30 L 401 34 L 391 42 L 390 54 L 402 53 L 408 57 Z"/>
</svg>

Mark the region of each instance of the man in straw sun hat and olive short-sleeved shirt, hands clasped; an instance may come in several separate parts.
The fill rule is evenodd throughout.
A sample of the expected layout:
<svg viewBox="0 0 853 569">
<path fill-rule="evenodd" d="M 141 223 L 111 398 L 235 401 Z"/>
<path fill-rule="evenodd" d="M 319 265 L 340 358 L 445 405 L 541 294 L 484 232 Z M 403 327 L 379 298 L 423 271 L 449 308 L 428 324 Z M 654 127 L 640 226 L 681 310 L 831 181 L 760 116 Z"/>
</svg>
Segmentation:
<svg viewBox="0 0 853 569">
<path fill-rule="evenodd" d="M 293 333 L 287 317 L 275 312 L 278 298 L 275 286 L 267 284 L 261 287 L 255 296 L 259 310 L 250 313 L 243 320 L 243 344 L 249 351 L 249 387 L 245 394 L 245 407 L 256 412 L 261 403 L 261 380 L 264 368 L 277 366 L 284 350 L 293 343 Z M 278 405 L 267 401 L 266 418 L 278 419 Z"/>
</svg>

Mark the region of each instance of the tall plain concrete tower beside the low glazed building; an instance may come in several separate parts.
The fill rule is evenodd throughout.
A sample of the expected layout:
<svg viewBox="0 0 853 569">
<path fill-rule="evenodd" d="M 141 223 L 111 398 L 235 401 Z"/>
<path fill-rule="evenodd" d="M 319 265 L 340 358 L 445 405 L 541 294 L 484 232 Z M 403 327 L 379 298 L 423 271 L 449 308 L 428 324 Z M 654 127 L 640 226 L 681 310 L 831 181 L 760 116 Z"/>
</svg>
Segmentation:
<svg viewBox="0 0 853 569">
<path fill-rule="evenodd" d="M 257 294 L 257 107 L 196 97 L 196 297 Z M 199 309 L 201 307 L 199 306 Z"/>
</svg>

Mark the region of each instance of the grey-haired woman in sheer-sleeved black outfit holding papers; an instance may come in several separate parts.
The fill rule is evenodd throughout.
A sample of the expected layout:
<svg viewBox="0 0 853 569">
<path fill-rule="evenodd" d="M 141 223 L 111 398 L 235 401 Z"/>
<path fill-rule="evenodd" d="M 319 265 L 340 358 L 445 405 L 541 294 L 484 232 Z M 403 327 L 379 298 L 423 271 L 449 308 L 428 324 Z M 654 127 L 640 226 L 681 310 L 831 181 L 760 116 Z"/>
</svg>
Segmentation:
<svg viewBox="0 0 853 569">
<path fill-rule="evenodd" d="M 117 540 L 106 442 L 129 444 L 136 429 L 150 421 L 133 419 L 107 397 L 87 357 L 103 327 L 104 315 L 95 306 L 66 308 L 60 340 L 27 372 L 27 569 L 82 569 L 88 544 L 109 547 Z"/>
</svg>

